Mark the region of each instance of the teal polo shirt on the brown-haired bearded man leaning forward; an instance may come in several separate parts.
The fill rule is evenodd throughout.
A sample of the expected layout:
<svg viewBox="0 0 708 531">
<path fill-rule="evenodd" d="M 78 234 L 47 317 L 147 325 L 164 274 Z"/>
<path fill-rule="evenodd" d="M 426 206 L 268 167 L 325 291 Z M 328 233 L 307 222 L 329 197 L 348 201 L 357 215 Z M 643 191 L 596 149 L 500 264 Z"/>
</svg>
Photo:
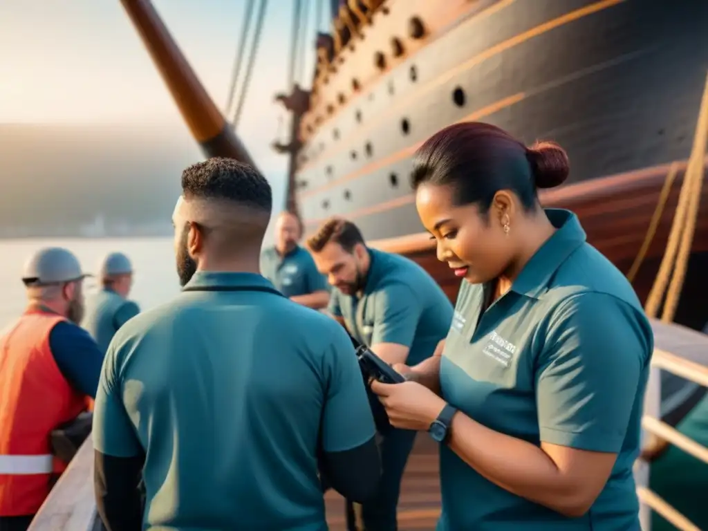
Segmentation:
<svg viewBox="0 0 708 531">
<path fill-rule="evenodd" d="M 447 335 L 452 304 L 417 263 L 369 249 L 371 265 L 364 290 L 344 295 L 333 289 L 329 312 L 343 317 L 354 338 L 367 346 L 398 343 L 409 347 L 406 363 L 430 357 Z"/>
</svg>

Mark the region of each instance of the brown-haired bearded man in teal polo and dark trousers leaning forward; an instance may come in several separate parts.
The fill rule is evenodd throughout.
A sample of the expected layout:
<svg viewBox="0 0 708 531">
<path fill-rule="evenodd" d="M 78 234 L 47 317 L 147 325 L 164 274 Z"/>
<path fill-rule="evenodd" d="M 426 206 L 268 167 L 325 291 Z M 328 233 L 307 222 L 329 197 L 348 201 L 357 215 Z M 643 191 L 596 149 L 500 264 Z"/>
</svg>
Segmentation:
<svg viewBox="0 0 708 531">
<path fill-rule="evenodd" d="M 382 360 L 416 365 L 447 336 L 452 304 L 418 264 L 367 248 L 358 227 L 336 217 L 307 244 L 317 268 L 335 288 L 329 312 Z M 379 409 L 378 399 L 371 399 L 372 407 Z M 395 530 L 401 477 L 416 432 L 383 429 L 381 488 L 376 498 L 363 504 L 362 519 L 366 529 Z M 350 503 L 347 520 L 349 529 L 355 529 Z"/>
</svg>

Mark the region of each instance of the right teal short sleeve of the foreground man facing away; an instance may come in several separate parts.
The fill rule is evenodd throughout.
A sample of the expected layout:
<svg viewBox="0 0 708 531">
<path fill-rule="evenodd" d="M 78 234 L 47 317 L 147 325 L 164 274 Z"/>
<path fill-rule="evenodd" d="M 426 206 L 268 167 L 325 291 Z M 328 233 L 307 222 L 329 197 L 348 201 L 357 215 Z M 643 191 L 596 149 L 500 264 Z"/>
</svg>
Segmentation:
<svg viewBox="0 0 708 531">
<path fill-rule="evenodd" d="M 370 440 L 376 428 L 354 348 L 339 326 L 332 333 L 329 349 L 325 356 L 322 447 L 325 452 L 343 452 Z"/>
</svg>

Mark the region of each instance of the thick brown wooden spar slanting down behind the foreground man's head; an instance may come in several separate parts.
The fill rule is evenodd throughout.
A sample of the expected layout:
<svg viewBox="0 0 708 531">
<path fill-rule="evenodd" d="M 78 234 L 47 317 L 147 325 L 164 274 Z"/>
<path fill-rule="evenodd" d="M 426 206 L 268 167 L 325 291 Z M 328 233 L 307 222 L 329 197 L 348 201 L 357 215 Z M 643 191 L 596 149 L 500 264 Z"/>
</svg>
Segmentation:
<svg viewBox="0 0 708 531">
<path fill-rule="evenodd" d="M 121 0 L 192 136 L 207 157 L 253 159 L 210 98 L 150 0 Z"/>
</svg>

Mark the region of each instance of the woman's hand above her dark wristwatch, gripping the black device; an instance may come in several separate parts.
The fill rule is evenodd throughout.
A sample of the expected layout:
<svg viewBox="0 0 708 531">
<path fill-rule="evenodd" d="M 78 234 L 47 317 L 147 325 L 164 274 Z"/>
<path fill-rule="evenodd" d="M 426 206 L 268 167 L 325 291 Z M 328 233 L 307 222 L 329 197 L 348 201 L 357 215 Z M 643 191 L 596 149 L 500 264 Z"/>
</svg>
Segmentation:
<svg viewBox="0 0 708 531">
<path fill-rule="evenodd" d="M 445 401 L 418 382 L 382 384 L 371 382 L 371 390 L 379 396 L 389 422 L 404 430 L 427 431 L 445 407 Z"/>
</svg>

